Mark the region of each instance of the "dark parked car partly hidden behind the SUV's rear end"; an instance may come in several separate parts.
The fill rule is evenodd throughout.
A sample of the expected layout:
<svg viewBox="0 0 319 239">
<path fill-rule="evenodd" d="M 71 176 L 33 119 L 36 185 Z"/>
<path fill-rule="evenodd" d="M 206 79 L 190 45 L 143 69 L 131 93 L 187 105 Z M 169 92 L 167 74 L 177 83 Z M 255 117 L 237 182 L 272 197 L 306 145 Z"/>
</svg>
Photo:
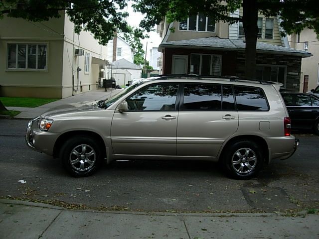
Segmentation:
<svg viewBox="0 0 319 239">
<path fill-rule="evenodd" d="M 319 97 L 309 93 L 281 93 L 293 129 L 314 129 L 319 135 Z"/>
</svg>

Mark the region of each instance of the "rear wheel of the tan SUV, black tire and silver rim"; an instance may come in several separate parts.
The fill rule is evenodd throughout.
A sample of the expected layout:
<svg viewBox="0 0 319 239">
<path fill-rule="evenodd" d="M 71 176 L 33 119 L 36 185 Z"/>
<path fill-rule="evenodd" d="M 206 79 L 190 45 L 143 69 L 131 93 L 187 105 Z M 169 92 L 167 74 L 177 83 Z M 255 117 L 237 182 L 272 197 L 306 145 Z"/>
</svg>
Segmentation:
<svg viewBox="0 0 319 239">
<path fill-rule="evenodd" d="M 250 179 L 263 167 L 263 150 L 251 140 L 241 140 L 224 149 L 221 163 L 228 176 Z"/>
</svg>

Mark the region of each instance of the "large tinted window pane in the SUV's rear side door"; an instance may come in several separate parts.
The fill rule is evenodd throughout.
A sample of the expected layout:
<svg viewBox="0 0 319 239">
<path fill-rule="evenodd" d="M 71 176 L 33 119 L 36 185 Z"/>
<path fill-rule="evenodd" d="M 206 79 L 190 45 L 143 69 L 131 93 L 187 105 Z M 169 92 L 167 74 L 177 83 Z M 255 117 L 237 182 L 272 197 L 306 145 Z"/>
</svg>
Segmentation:
<svg viewBox="0 0 319 239">
<path fill-rule="evenodd" d="M 185 84 L 182 110 L 220 110 L 221 86 L 213 84 Z"/>
</svg>

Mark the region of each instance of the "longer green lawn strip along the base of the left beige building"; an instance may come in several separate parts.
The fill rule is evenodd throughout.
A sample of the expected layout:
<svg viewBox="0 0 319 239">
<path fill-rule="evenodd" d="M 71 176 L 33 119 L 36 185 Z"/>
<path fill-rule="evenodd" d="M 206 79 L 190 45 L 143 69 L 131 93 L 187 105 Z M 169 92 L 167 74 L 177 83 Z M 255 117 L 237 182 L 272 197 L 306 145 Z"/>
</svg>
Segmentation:
<svg viewBox="0 0 319 239">
<path fill-rule="evenodd" d="M 7 107 L 38 107 L 58 99 L 26 98 L 26 97 L 0 97 L 0 101 Z"/>
</svg>

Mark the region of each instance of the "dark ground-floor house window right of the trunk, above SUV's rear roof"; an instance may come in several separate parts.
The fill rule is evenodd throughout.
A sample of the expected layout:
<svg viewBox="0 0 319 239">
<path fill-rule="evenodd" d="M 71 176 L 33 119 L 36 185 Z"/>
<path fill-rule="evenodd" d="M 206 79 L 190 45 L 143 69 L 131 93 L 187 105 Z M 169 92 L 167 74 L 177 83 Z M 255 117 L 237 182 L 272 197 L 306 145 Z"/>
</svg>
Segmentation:
<svg viewBox="0 0 319 239">
<path fill-rule="evenodd" d="M 279 82 L 286 87 L 287 66 L 257 65 L 256 78 L 263 81 Z"/>
</svg>

